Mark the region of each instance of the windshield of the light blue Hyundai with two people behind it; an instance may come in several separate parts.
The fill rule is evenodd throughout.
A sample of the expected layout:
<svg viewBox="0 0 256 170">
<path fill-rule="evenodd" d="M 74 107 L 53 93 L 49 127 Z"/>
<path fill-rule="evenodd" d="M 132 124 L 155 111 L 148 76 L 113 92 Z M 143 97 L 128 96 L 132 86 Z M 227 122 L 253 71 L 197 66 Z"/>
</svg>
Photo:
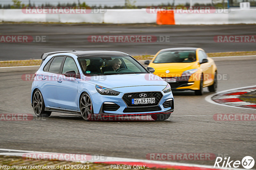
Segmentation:
<svg viewBox="0 0 256 170">
<path fill-rule="evenodd" d="M 86 76 L 148 73 L 138 61 L 127 55 L 79 57 L 78 61 Z"/>
</svg>

